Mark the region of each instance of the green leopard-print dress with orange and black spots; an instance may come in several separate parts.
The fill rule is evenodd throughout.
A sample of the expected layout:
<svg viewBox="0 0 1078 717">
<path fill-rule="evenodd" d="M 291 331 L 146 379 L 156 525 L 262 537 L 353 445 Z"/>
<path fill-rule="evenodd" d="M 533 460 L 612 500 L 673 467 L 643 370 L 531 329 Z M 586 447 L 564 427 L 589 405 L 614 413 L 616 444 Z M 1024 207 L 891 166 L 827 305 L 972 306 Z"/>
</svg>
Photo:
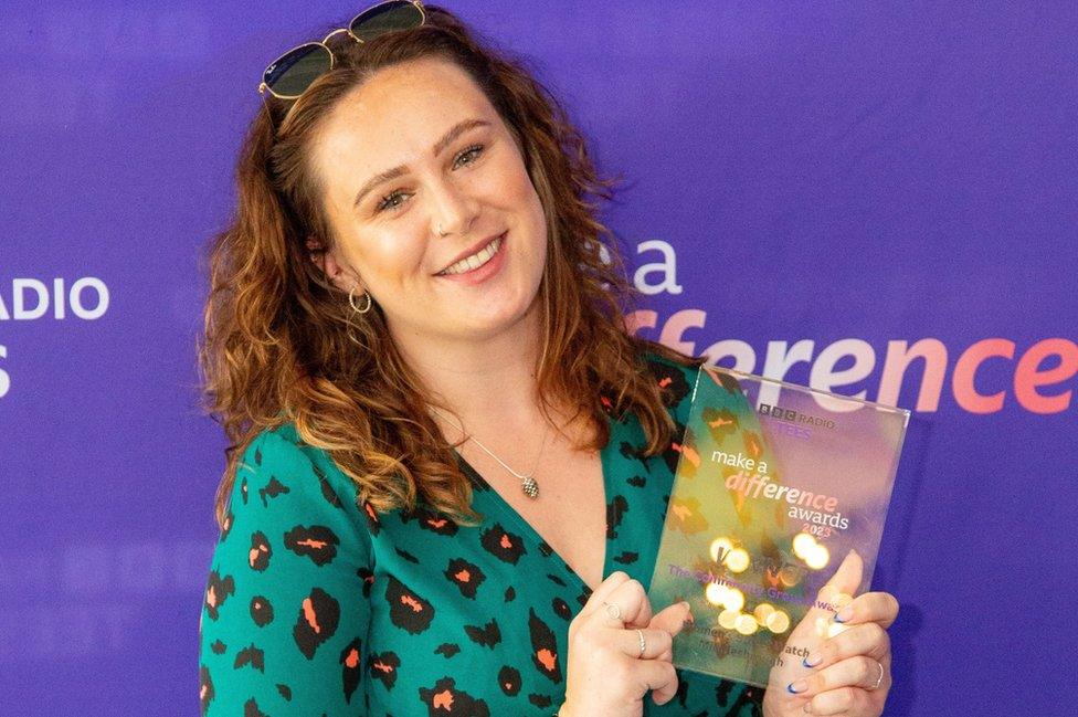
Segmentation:
<svg viewBox="0 0 1078 717">
<path fill-rule="evenodd" d="M 647 354 L 678 435 L 696 370 Z M 632 413 L 606 419 L 605 578 L 651 584 L 679 440 L 641 458 Z M 424 510 L 376 513 L 290 424 L 263 431 L 236 474 L 200 628 L 205 715 L 554 714 L 569 622 L 591 590 L 459 458 L 478 527 Z M 665 605 L 656 605 L 656 610 Z M 677 696 L 644 714 L 760 714 L 762 690 L 678 671 Z"/>
</svg>

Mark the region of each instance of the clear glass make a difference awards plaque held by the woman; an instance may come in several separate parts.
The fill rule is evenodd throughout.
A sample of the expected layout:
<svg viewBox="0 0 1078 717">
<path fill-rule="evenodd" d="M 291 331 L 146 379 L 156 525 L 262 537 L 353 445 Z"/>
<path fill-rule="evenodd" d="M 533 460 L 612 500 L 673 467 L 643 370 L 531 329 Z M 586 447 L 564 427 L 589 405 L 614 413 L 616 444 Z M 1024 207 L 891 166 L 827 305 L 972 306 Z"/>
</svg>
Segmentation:
<svg viewBox="0 0 1078 717">
<path fill-rule="evenodd" d="M 764 686 L 850 549 L 865 560 L 858 592 L 868 588 L 908 421 L 902 409 L 700 370 L 648 591 L 653 605 L 693 607 L 676 666 Z"/>
</svg>

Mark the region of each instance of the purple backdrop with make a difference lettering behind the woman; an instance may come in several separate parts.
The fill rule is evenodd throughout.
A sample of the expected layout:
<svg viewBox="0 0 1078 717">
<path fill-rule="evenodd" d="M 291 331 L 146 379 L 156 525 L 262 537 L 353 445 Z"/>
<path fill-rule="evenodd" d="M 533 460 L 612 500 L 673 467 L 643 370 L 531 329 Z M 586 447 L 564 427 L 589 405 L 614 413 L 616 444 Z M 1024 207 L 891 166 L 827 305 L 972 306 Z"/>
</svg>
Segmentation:
<svg viewBox="0 0 1078 717">
<path fill-rule="evenodd" d="M 624 173 L 644 335 L 916 409 L 888 714 L 1072 714 L 1078 6 L 448 4 Z M 4 711 L 198 709 L 200 255 L 258 74 L 356 10 L 4 3 Z"/>
</svg>

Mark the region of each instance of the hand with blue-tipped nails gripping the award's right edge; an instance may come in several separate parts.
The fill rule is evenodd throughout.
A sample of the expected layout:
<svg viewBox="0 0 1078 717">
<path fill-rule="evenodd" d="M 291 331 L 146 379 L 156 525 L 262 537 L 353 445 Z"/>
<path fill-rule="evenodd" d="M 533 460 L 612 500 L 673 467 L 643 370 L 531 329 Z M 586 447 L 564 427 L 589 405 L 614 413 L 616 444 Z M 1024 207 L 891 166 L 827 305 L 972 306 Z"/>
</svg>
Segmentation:
<svg viewBox="0 0 1078 717">
<path fill-rule="evenodd" d="M 834 604 L 838 595 L 852 595 L 863 570 L 860 556 L 850 551 L 820 590 L 817 602 Z M 854 598 L 837 615 L 812 608 L 790 633 L 780 664 L 771 669 L 764 717 L 878 717 L 891 686 L 887 628 L 896 616 L 898 601 L 887 592 Z"/>
</svg>

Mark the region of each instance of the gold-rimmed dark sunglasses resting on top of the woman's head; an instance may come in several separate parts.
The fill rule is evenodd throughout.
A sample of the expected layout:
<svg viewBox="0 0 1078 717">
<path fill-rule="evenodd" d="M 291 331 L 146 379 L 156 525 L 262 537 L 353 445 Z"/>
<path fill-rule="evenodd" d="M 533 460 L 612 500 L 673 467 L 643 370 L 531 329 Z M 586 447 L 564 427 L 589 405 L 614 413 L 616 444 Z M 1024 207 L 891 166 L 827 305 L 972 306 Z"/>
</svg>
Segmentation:
<svg viewBox="0 0 1078 717">
<path fill-rule="evenodd" d="M 418 28 L 426 21 L 420 0 L 389 0 L 363 10 L 347 28 L 338 28 L 321 42 L 307 42 L 281 55 L 262 73 L 258 92 L 268 92 L 278 99 L 296 99 L 310 84 L 334 67 L 334 53 L 326 42 L 339 32 L 347 32 L 359 43 L 373 40 L 393 30 Z"/>
</svg>

